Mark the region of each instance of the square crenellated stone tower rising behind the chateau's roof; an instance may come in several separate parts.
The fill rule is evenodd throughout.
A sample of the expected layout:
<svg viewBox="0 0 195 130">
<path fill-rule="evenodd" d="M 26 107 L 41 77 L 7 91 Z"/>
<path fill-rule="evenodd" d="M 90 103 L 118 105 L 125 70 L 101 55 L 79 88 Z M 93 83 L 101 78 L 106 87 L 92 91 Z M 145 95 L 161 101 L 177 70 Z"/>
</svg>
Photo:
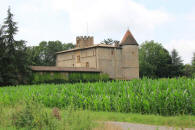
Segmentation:
<svg viewBox="0 0 195 130">
<path fill-rule="evenodd" d="M 76 47 L 77 48 L 84 48 L 88 46 L 93 46 L 93 37 L 91 36 L 79 36 L 76 37 Z"/>
</svg>

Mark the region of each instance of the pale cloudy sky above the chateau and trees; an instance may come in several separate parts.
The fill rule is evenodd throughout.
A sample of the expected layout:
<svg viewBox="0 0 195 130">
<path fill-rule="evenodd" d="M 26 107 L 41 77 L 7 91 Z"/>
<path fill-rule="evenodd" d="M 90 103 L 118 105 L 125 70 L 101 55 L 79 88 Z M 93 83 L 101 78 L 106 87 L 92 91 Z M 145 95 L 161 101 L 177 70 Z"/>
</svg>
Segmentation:
<svg viewBox="0 0 195 130">
<path fill-rule="evenodd" d="M 0 0 L 0 25 L 8 6 L 18 23 L 16 39 L 28 46 L 75 43 L 83 35 L 95 43 L 120 41 L 129 28 L 139 45 L 154 40 L 176 49 L 184 63 L 195 52 L 195 0 Z"/>
</svg>

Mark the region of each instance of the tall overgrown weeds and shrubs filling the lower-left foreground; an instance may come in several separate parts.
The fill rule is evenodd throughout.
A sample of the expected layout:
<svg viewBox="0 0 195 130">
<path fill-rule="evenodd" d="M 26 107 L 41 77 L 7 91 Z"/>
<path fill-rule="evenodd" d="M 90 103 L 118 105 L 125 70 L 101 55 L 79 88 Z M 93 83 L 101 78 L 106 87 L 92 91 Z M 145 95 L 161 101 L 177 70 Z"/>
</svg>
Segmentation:
<svg viewBox="0 0 195 130">
<path fill-rule="evenodd" d="M 0 117 L 0 129 L 92 130 L 95 127 L 95 123 L 86 111 L 68 107 L 62 114 L 60 109 L 47 109 L 34 101 L 22 102 L 14 106 L 2 105 Z"/>
</svg>

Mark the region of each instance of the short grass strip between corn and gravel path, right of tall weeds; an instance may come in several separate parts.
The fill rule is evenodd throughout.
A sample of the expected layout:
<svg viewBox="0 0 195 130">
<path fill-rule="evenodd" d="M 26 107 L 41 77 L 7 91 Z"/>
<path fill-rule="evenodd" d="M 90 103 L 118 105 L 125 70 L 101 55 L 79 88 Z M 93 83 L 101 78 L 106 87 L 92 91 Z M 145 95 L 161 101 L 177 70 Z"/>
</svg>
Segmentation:
<svg viewBox="0 0 195 130">
<path fill-rule="evenodd" d="M 99 121 L 119 121 L 150 125 L 172 126 L 181 128 L 195 128 L 195 116 L 159 116 L 159 115 L 141 115 L 132 113 L 116 112 L 89 112 L 92 119 Z"/>
</svg>

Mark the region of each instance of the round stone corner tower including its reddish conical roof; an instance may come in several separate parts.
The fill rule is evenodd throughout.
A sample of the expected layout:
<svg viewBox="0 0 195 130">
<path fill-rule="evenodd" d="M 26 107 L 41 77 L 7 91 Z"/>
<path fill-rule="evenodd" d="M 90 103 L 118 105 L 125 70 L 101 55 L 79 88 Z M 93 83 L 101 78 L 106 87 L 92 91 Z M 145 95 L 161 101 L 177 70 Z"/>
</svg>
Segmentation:
<svg viewBox="0 0 195 130">
<path fill-rule="evenodd" d="M 122 75 L 124 79 L 139 78 L 138 43 L 129 30 L 125 33 L 122 47 Z"/>
</svg>

